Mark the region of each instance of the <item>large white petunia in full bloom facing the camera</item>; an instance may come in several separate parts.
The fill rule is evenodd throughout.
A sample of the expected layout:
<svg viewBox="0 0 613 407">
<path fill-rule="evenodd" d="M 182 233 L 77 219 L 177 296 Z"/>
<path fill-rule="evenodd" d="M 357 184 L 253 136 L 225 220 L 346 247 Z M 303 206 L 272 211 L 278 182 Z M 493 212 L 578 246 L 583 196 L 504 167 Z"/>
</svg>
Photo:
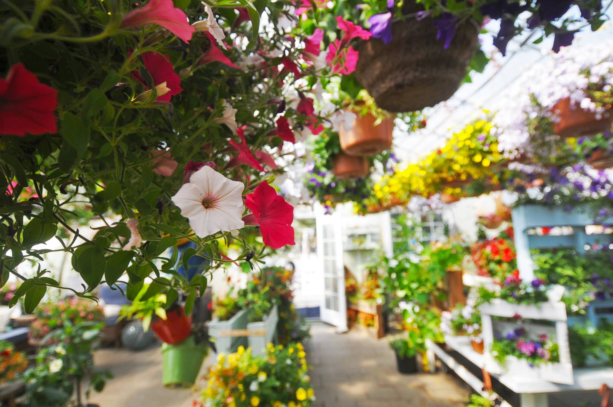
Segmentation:
<svg viewBox="0 0 613 407">
<path fill-rule="evenodd" d="M 232 181 L 205 165 L 183 184 L 172 202 L 189 219 L 194 233 L 200 238 L 239 229 L 245 226 L 243 215 L 243 183 Z"/>
</svg>

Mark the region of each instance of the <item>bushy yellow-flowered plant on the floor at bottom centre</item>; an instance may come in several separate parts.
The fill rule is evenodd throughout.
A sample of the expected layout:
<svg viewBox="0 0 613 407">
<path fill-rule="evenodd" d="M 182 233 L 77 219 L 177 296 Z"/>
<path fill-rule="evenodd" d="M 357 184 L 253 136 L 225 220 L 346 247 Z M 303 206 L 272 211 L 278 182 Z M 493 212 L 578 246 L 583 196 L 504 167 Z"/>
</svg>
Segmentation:
<svg viewBox="0 0 613 407">
<path fill-rule="evenodd" d="M 200 406 L 307 407 L 315 400 L 301 343 L 267 345 L 266 354 L 253 356 L 243 346 L 220 354 L 208 373 Z"/>
</svg>

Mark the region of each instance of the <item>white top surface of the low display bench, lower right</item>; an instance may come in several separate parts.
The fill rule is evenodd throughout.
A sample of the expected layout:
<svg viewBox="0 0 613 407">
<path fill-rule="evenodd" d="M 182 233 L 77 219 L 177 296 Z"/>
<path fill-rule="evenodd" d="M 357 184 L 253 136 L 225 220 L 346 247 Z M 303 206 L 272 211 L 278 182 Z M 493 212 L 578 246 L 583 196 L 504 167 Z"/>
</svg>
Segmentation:
<svg viewBox="0 0 613 407">
<path fill-rule="evenodd" d="M 460 355 L 470 360 L 477 367 L 482 368 L 485 357 L 473 351 L 468 337 L 445 337 L 445 343 Z M 613 368 L 576 368 L 573 370 L 574 384 L 557 384 L 545 381 L 526 380 L 522 377 L 505 375 L 492 375 L 504 386 L 517 394 L 525 393 L 554 393 L 577 390 L 598 390 L 606 384 L 613 387 Z"/>
</svg>

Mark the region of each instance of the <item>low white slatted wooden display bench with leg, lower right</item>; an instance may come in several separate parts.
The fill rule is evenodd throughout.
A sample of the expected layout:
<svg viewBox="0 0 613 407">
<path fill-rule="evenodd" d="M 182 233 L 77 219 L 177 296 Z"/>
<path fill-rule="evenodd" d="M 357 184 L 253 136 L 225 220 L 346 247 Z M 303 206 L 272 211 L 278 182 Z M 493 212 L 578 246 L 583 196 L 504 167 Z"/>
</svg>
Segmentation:
<svg viewBox="0 0 613 407">
<path fill-rule="evenodd" d="M 485 366 L 486 357 L 473 351 L 468 337 L 445 337 L 445 343 L 449 348 L 458 352 L 460 355 L 470 360 L 479 368 Z M 466 380 L 466 368 L 456 362 L 455 359 L 438 344 L 428 341 L 428 349 L 446 363 L 449 368 L 454 370 L 460 378 L 473 386 L 471 382 Z M 433 364 L 433 363 L 432 363 Z M 460 372 L 460 373 L 459 373 Z M 480 381 L 476 376 L 468 372 L 474 379 Z M 501 384 L 508 387 L 511 391 L 520 395 L 521 405 L 514 407 L 548 407 L 549 400 L 547 394 L 555 392 L 570 392 L 582 390 L 598 390 L 603 384 L 609 387 L 613 386 L 613 368 L 577 368 L 573 370 L 574 384 L 558 384 L 547 381 L 539 381 L 533 378 L 526 378 L 518 375 L 492 375 L 500 381 Z M 470 380 L 470 379 L 469 379 Z M 482 384 L 482 382 L 481 382 Z M 473 386 L 474 387 L 474 386 Z M 506 401 L 501 406 L 510 406 Z"/>
</svg>

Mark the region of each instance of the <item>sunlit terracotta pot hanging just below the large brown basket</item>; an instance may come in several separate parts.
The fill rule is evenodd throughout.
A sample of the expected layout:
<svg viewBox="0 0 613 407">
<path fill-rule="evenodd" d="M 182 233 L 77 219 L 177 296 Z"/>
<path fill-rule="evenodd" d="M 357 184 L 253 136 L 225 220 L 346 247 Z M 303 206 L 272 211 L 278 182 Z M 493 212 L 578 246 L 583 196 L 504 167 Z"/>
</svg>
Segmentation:
<svg viewBox="0 0 613 407">
<path fill-rule="evenodd" d="M 376 118 L 370 113 L 361 116 L 356 113 L 351 130 L 340 126 L 338 138 L 341 148 L 351 156 L 372 156 L 392 147 L 392 131 L 394 120 L 391 118 L 381 121 L 375 126 Z"/>
</svg>

